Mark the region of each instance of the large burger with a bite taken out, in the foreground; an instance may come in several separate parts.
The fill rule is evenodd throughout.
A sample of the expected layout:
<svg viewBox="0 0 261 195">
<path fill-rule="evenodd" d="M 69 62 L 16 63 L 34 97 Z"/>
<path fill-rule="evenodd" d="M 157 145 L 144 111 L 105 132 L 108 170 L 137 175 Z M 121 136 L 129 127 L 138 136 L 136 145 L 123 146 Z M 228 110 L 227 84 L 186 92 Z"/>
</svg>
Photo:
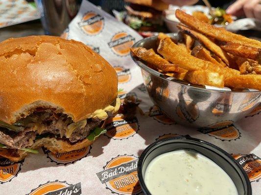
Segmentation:
<svg viewBox="0 0 261 195">
<path fill-rule="evenodd" d="M 114 68 L 75 40 L 30 36 L 0 42 L 0 156 L 13 161 L 46 147 L 92 144 L 116 115 Z"/>
</svg>

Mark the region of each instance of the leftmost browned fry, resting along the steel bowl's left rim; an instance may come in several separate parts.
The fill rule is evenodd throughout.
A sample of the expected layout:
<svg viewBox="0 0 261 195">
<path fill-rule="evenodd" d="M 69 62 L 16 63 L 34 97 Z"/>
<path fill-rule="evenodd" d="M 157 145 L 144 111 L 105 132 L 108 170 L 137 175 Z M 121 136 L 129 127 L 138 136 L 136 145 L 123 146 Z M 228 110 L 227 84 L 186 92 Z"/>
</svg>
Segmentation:
<svg viewBox="0 0 261 195">
<path fill-rule="evenodd" d="M 163 70 L 164 72 L 170 72 L 170 73 L 187 72 L 187 70 L 175 64 L 169 63 L 166 59 L 157 55 L 152 49 L 147 50 L 143 47 L 136 47 L 136 48 L 131 48 L 131 52 L 138 58 L 148 62 L 150 65 L 156 67 L 157 69 Z"/>
</svg>

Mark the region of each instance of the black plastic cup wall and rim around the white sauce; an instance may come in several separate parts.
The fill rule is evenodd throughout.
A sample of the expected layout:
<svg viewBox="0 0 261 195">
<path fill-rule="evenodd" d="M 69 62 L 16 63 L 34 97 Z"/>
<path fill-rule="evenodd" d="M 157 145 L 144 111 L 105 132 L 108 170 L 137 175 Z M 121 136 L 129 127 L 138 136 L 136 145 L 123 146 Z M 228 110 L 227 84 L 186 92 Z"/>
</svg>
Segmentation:
<svg viewBox="0 0 261 195">
<path fill-rule="evenodd" d="M 237 187 L 238 195 L 252 195 L 248 176 L 231 155 L 209 142 L 191 137 L 159 139 L 142 152 L 138 162 L 138 177 L 145 195 L 151 195 L 144 182 L 148 164 L 156 156 L 175 150 L 189 150 L 210 158 L 231 177 Z M 178 192 L 176 194 L 178 195 Z"/>
</svg>

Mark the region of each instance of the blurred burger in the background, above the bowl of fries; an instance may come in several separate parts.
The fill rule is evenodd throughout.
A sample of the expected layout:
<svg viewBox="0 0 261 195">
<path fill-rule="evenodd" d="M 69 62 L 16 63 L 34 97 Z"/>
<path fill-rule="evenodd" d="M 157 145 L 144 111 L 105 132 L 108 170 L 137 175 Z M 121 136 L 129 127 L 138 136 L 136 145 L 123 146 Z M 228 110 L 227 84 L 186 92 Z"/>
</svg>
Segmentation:
<svg viewBox="0 0 261 195">
<path fill-rule="evenodd" d="M 168 5 L 161 0 L 125 0 L 127 15 L 124 22 L 137 31 L 163 31 L 162 11 Z"/>
</svg>

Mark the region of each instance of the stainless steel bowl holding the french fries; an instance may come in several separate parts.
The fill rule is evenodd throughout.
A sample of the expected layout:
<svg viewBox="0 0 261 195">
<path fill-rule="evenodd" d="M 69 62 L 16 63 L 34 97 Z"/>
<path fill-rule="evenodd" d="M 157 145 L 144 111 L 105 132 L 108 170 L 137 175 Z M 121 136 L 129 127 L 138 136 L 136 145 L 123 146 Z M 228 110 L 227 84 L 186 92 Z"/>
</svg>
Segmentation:
<svg viewBox="0 0 261 195">
<path fill-rule="evenodd" d="M 178 39 L 177 34 L 168 34 Z M 157 49 L 157 36 L 142 39 L 133 47 Z M 175 55 L 175 54 L 173 54 Z M 205 130 L 228 126 L 247 116 L 261 102 L 261 91 L 210 90 L 203 85 L 167 77 L 131 55 L 142 70 L 145 88 L 151 100 L 172 120 Z"/>
</svg>

